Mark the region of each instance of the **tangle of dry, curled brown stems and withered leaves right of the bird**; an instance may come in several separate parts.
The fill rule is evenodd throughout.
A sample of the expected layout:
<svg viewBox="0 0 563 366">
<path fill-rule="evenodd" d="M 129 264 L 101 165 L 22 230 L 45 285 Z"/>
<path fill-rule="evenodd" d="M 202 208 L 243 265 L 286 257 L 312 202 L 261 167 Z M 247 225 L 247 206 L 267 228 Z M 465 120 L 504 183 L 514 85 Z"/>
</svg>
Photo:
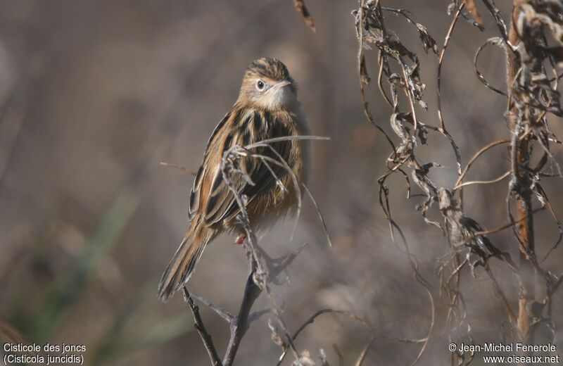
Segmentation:
<svg viewBox="0 0 563 366">
<path fill-rule="evenodd" d="M 548 327 L 555 334 L 553 330 L 555 325 L 551 320 L 550 303 L 552 294 L 561 283 L 561 277 L 543 269 L 538 262 L 536 249 L 533 245 L 533 215 L 538 210 L 547 208 L 557 227 L 559 227 L 559 239 L 552 246 L 549 254 L 557 247 L 563 237 L 562 224 L 556 217 L 548 196 L 540 185 L 540 180 L 543 177 L 561 176 L 559 163 L 550 150 L 550 143 L 560 144 L 560 141 L 550 131 L 547 119 L 548 114 L 562 115 L 557 90 L 559 75 L 562 75 L 559 69 L 563 67 L 563 20 L 559 16 L 563 11 L 561 2 L 514 1 L 514 11 L 509 22 L 510 27 L 508 27 L 494 2 L 482 0 L 498 28 L 500 37 L 488 39 L 479 47 L 474 58 L 474 68 L 478 79 L 485 87 L 507 96 L 505 118 L 511 125 L 512 133 L 510 139 L 499 139 L 479 149 L 463 170 L 461 169 L 460 151 L 445 127 L 441 103 L 441 70 L 445 61 L 445 51 L 459 18 L 465 18 L 480 30 L 483 29 L 483 20 L 477 11 L 476 1 L 464 0 L 460 4 L 457 0 L 454 0 L 448 8 L 448 13 L 454 13 L 455 10 L 455 15 L 453 15 L 438 56 L 436 91 L 438 96 L 438 127 L 424 124 L 419 120 L 418 116 L 421 113 L 417 111 L 417 108 L 423 111 L 427 108 L 422 99 L 426 86 L 420 77 L 419 58 L 415 52 L 407 49 L 395 32 L 387 30 L 384 13 L 403 15 L 408 23 L 415 25 L 424 51 L 430 50 L 438 55 L 437 43 L 428 34 L 426 27 L 416 23 L 408 11 L 385 7 L 382 2 L 381 0 L 360 0 L 358 9 L 353 11 L 359 42 L 358 75 L 362 106 L 366 118 L 384 134 L 392 149 L 386 161 L 388 170 L 378 181 L 379 205 L 389 222 L 393 243 L 396 243 L 396 234 L 399 234 L 403 246 L 398 248 L 407 256 L 417 282 L 426 289 L 431 302 L 431 320 L 426 341 L 413 363 L 419 360 L 434 329 L 434 298 L 427 282 L 419 274 L 416 258 L 409 250 L 402 229 L 391 215 L 391 207 L 388 201 L 389 188 L 386 186 L 386 179 L 399 173 L 407 182 L 407 198 L 410 197 L 411 184 L 410 177 L 407 174 L 409 170 L 412 182 L 415 182 L 416 186 L 422 190 L 422 196 L 425 198 L 424 202 L 417 206 L 424 222 L 440 228 L 448 238 L 450 253 L 439 261 L 437 273 L 440 281 L 438 296 L 448 306 L 446 324 L 450 327 L 451 334 L 455 334 L 455 331 L 461 332 L 461 336 L 465 336 L 472 341 L 465 303 L 460 292 L 460 276 L 466 268 L 469 268 L 471 273 L 475 275 L 476 267 L 483 267 L 484 272 L 491 280 L 493 291 L 507 313 L 513 339 L 532 339 L 534 329 L 537 329 L 540 325 Z M 469 14 L 464 13 L 464 8 L 467 8 Z M 553 44 L 548 44 L 548 39 Z M 477 66 L 481 51 L 488 45 L 500 46 L 507 53 L 507 74 L 509 77 L 506 92 L 502 92 L 498 87 L 493 87 Z M 384 100 L 391 106 L 390 127 L 398 138 L 398 143 L 393 141 L 396 139 L 391 138 L 386 132 L 386 128 L 375 122 L 368 109 L 365 87 L 369 84 L 370 77 L 367 72 L 365 53 L 372 50 L 377 51 L 379 63 L 377 85 Z M 548 61 L 550 67 L 546 67 L 544 61 Z M 550 73 L 552 75 L 548 75 Z M 400 93 L 403 93 L 407 98 L 406 106 L 399 103 L 398 94 Z M 419 146 L 426 144 L 426 135 L 429 132 L 438 132 L 448 140 L 453 148 L 457 161 L 457 172 L 455 172 L 457 182 L 451 188 L 438 187 L 429 176 L 432 169 L 441 167 L 440 164 L 423 163 L 415 155 Z M 507 172 L 496 179 L 463 182 L 477 158 L 493 147 L 502 144 L 510 144 L 511 148 L 511 164 Z M 531 162 L 533 146 L 539 146 L 543 151 L 542 158 L 535 165 Z M 472 184 L 493 184 L 507 177 L 510 177 L 510 183 L 507 187 L 507 217 L 509 223 L 497 229 L 483 229 L 478 222 L 464 212 L 462 205 L 463 187 Z M 534 198 L 539 203 L 539 208 L 533 208 Z M 516 217 L 512 215 L 511 204 L 513 202 L 516 202 L 517 206 Z M 442 222 L 429 220 L 427 216 L 429 211 L 436 206 Z M 519 265 L 516 265 L 508 253 L 500 251 L 488 238 L 488 235 L 509 228 L 514 231 L 520 249 Z M 518 311 L 512 310 L 505 291 L 501 289 L 495 279 L 489 265 L 491 258 L 500 260 L 514 272 L 520 288 Z M 538 292 L 534 288 L 534 277 L 539 277 L 545 286 L 543 296 L 540 298 L 534 295 Z M 536 307 L 540 308 L 538 313 L 530 314 L 529 308 L 534 302 L 542 305 Z M 452 362 L 456 365 L 467 365 L 474 358 L 473 353 L 454 353 L 454 355 Z"/>
</svg>

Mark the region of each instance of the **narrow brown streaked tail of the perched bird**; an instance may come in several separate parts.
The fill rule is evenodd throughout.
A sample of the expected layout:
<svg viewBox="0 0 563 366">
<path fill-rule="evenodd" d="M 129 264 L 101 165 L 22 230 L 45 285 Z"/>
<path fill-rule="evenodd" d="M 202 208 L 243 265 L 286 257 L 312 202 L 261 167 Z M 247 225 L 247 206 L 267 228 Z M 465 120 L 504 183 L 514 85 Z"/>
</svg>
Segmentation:
<svg viewBox="0 0 563 366">
<path fill-rule="evenodd" d="M 198 225 L 195 218 L 186 232 L 158 285 L 158 298 L 166 302 L 178 291 L 194 272 L 205 246 L 215 237 L 215 230 Z"/>
</svg>

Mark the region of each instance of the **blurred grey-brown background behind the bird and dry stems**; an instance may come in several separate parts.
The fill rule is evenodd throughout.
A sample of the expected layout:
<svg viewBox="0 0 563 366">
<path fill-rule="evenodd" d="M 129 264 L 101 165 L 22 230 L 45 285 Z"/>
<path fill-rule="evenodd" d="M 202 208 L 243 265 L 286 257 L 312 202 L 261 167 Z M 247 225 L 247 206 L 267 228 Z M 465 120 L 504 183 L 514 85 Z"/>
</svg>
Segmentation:
<svg viewBox="0 0 563 366">
<path fill-rule="evenodd" d="M 510 1 L 499 3 L 507 14 Z M 87 365 L 208 365 L 182 296 L 166 304 L 156 298 L 160 275 L 186 229 L 192 180 L 158 163 L 198 168 L 208 136 L 236 99 L 246 65 L 261 56 L 286 63 L 312 133 L 332 139 L 312 143 L 310 188 L 334 248 L 327 248 L 310 202 L 293 242 L 287 235 L 291 220 L 260 241 L 272 255 L 309 243 L 290 267 L 290 282 L 275 288 L 284 319 L 296 329 L 315 310 L 337 308 L 395 336 L 426 336 L 428 298 L 405 255 L 393 247 L 377 204 L 377 177 L 389 149 L 362 113 L 350 15 L 357 1 L 306 4 L 316 34 L 289 0 L 0 1 L 0 315 L 27 340 L 85 344 Z M 443 43 L 448 1 L 385 4 L 412 11 Z M 460 20 L 443 66 L 445 122 L 464 163 L 479 147 L 508 136 L 504 97 L 485 89 L 472 67 L 476 48 L 496 35 L 485 18 L 485 32 Z M 437 57 L 424 54 L 412 25 L 395 15 L 387 19 L 387 27 L 422 59 L 430 108 L 420 119 L 436 125 Z M 375 76 L 377 55 L 368 55 Z M 480 65 L 502 88 L 502 51 L 486 50 Z M 369 103 L 388 129 L 391 111 L 374 84 Z M 560 120 L 551 127 L 563 134 Z M 456 177 L 450 146 L 434 134 L 429 143 L 420 149 L 423 160 L 444 165 L 432 175 L 451 187 Z M 492 179 L 506 166 L 507 152 L 499 147 L 476 163 L 469 178 Z M 467 213 L 487 228 L 504 225 L 506 184 L 467 189 Z M 415 211 L 422 198 L 407 200 L 399 177 L 388 185 L 395 218 L 421 272 L 436 285 L 436 260 L 448 253 L 447 243 Z M 560 182 L 544 187 L 563 216 Z M 557 228 L 547 213 L 537 217 L 541 258 Z M 509 232 L 492 239 L 517 253 Z M 223 237 L 208 246 L 189 287 L 236 312 L 246 260 L 233 240 Z M 546 267 L 559 274 L 562 255 L 557 248 Z M 496 264 L 495 273 L 517 301 L 514 279 Z M 469 273 L 462 283 L 474 338 L 500 340 L 506 315 L 491 284 Z M 562 294 L 554 299 L 555 322 L 563 313 Z M 266 305 L 262 298 L 255 308 Z M 202 315 L 222 353 L 227 324 L 207 308 Z M 447 330 L 438 324 L 435 337 L 422 365 L 448 363 Z M 324 315 L 296 345 L 315 358 L 322 347 L 336 364 L 336 343 L 348 365 L 367 341 L 360 325 Z M 407 365 L 418 351 L 417 345 L 377 338 L 366 364 Z M 279 353 L 264 317 L 243 339 L 236 364 L 273 365 Z M 288 357 L 284 365 L 290 364 Z"/>
</svg>

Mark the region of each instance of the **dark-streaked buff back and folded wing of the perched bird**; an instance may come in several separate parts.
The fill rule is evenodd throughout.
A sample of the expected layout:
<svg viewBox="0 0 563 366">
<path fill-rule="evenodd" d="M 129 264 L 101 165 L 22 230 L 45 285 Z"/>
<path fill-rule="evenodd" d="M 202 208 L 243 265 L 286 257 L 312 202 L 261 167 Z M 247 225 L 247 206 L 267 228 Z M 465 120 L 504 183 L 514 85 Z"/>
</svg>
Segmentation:
<svg viewBox="0 0 563 366">
<path fill-rule="evenodd" d="M 251 124 L 254 124 L 255 127 L 251 127 Z M 225 115 L 210 137 L 203 165 L 194 181 L 190 197 L 190 215 L 194 215 L 198 211 L 201 213 L 205 225 L 214 225 L 226 217 L 239 213 L 239 205 L 221 171 L 224 152 L 235 145 L 246 146 L 264 139 L 289 134 L 289 130 L 284 128 L 281 122 L 262 111 L 243 109 Z M 284 160 L 287 160 L 289 144 L 290 141 L 281 141 L 272 144 L 272 147 Z M 251 149 L 250 153 L 279 160 L 276 153 L 265 147 Z M 284 168 L 274 163 L 268 165 L 276 177 L 281 178 L 284 175 Z M 276 182 L 270 168 L 259 158 L 242 156 L 236 168 L 240 172 L 232 174 L 232 187 L 239 194 L 246 196 L 248 202 L 258 196 L 260 191 L 273 187 Z"/>
</svg>

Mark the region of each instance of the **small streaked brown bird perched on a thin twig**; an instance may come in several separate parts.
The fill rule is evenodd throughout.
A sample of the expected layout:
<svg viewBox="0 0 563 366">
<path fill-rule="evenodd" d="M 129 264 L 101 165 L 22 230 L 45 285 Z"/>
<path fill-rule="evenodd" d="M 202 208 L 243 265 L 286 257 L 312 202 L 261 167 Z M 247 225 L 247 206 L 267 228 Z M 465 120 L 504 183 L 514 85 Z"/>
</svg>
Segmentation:
<svg viewBox="0 0 563 366">
<path fill-rule="evenodd" d="M 236 220 L 239 205 L 222 174 L 223 153 L 235 145 L 306 134 L 305 114 L 286 65 L 276 58 L 253 61 L 244 74 L 239 99 L 208 141 L 189 198 L 189 228 L 158 286 L 161 300 L 167 301 L 188 281 L 203 249 L 217 235 L 228 232 L 239 234 L 239 240 L 244 237 L 245 232 Z M 308 141 L 291 139 L 270 146 L 275 152 L 264 146 L 249 152 L 278 161 L 283 158 L 299 184 L 306 184 L 310 164 Z M 252 229 L 272 225 L 295 210 L 300 188 L 295 187 L 286 168 L 251 156 L 243 156 L 239 168 L 246 172 L 246 177 L 235 173 L 232 180 L 239 195 L 246 198 Z"/>
</svg>

